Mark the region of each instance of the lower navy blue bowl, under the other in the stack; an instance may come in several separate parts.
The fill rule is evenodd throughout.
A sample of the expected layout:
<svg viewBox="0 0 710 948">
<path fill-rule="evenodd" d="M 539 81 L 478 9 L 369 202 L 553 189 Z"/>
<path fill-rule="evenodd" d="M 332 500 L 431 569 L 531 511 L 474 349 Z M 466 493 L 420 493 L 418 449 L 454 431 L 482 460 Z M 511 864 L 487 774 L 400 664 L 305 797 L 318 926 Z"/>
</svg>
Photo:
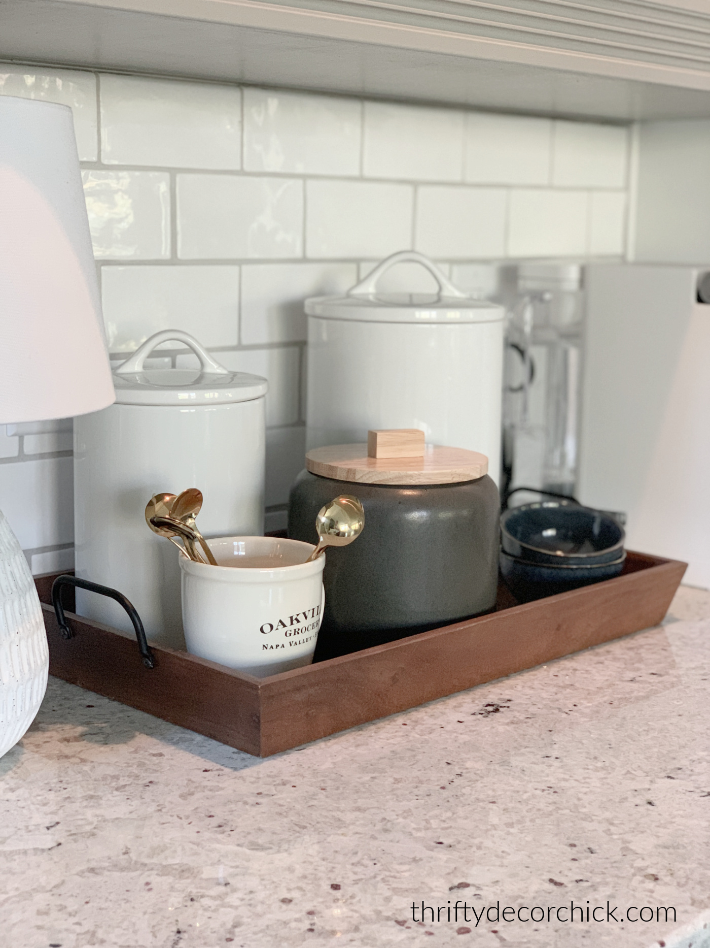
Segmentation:
<svg viewBox="0 0 710 948">
<path fill-rule="evenodd" d="M 550 565 L 548 563 L 530 563 L 517 556 L 510 556 L 501 550 L 500 566 L 506 586 L 518 602 L 532 602 L 547 595 L 567 593 L 580 586 L 591 586 L 603 579 L 612 579 L 624 569 L 626 553 L 612 563 L 595 563 L 592 565 L 563 564 Z"/>
</svg>

